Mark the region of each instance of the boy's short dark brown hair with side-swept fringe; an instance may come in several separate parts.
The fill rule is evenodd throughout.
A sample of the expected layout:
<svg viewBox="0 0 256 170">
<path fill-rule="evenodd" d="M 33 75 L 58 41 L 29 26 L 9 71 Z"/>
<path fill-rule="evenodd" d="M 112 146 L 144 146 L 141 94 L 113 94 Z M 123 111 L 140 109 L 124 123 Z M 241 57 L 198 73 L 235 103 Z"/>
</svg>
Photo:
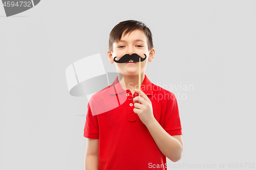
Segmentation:
<svg viewBox="0 0 256 170">
<path fill-rule="evenodd" d="M 109 50 L 113 52 L 113 43 L 118 42 L 122 38 L 122 34 L 124 32 L 125 36 L 126 34 L 139 29 L 143 31 L 147 37 L 147 48 L 148 51 L 151 50 L 151 48 L 154 47 L 153 45 L 153 39 L 152 39 L 152 33 L 149 28 L 146 27 L 146 25 L 143 22 L 137 21 L 137 20 L 125 20 L 122 22 L 119 22 L 118 25 L 116 25 L 112 31 L 110 32 L 110 39 L 109 39 Z"/>
</svg>

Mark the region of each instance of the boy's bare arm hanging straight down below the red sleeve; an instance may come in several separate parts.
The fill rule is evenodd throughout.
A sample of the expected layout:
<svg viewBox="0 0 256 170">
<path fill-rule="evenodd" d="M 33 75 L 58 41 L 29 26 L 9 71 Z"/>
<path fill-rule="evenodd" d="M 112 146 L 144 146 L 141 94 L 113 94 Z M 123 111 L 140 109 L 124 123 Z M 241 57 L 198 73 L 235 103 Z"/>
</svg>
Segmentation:
<svg viewBox="0 0 256 170">
<path fill-rule="evenodd" d="M 87 138 L 84 170 L 99 169 L 99 139 Z"/>
</svg>

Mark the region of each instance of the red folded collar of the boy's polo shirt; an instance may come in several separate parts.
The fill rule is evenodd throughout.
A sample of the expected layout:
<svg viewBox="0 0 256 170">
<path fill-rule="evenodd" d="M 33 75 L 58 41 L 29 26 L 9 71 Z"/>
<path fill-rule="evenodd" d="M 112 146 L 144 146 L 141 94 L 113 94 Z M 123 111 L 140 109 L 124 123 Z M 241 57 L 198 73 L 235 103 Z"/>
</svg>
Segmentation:
<svg viewBox="0 0 256 170">
<path fill-rule="evenodd" d="M 140 87 L 141 91 L 143 91 L 146 95 L 153 95 L 153 86 L 150 80 L 148 80 L 148 78 L 146 77 L 146 75 L 144 75 L 144 80 L 142 82 L 142 85 Z M 116 77 L 115 81 L 112 83 L 112 85 L 110 86 L 110 94 L 118 94 L 118 93 L 122 93 L 122 92 L 126 92 L 126 90 L 124 90 L 118 80 L 118 76 Z M 137 93 L 137 92 L 135 92 Z"/>
</svg>

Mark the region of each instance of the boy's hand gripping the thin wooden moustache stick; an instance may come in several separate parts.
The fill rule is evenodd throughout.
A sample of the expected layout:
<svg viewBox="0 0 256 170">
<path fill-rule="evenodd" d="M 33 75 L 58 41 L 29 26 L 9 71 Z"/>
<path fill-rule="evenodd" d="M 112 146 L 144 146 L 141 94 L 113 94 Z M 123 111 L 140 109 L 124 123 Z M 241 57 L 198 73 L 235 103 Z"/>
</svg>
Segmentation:
<svg viewBox="0 0 256 170">
<path fill-rule="evenodd" d="M 147 98 L 146 94 L 143 91 L 139 89 L 135 89 L 135 91 L 139 93 L 140 96 L 137 96 L 133 99 L 135 107 L 133 111 L 134 113 L 138 114 L 141 122 L 147 126 L 148 124 L 151 124 L 155 119 L 151 101 Z M 139 101 L 140 104 L 137 103 L 137 101 Z"/>
</svg>

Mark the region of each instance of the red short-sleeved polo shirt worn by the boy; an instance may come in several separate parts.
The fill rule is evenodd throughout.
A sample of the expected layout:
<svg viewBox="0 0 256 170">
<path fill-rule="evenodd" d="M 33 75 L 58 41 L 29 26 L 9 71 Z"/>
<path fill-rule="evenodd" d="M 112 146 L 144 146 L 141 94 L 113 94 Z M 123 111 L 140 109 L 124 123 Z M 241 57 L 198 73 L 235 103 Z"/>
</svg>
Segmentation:
<svg viewBox="0 0 256 170">
<path fill-rule="evenodd" d="M 141 90 L 151 100 L 157 122 L 169 135 L 182 135 L 175 95 L 144 77 Z M 133 98 L 115 79 L 111 86 L 95 93 L 89 103 L 84 137 L 99 139 L 99 170 L 167 169 L 166 157 L 133 112 Z M 153 166 L 155 164 L 155 166 Z"/>
</svg>

